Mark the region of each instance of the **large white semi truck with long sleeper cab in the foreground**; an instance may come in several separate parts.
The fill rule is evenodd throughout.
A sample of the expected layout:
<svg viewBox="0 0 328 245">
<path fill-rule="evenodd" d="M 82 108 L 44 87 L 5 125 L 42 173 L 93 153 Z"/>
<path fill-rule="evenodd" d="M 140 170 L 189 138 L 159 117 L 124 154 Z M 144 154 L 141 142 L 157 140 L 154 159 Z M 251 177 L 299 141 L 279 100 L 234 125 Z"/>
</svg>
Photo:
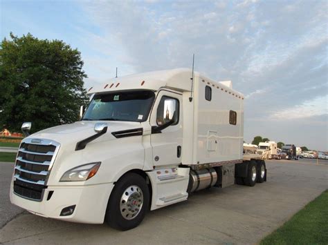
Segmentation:
<svg viewBox="0 0 328 245">
<path fill-rule="evenodd" d="M 12 204 L 128 230 L 197 190 L 266 181 L 259 155 L 243 155 L 244 95 L 230 81 L 164 70 L 113 78 L 89 95 L 80 121 L 21 142 Z"/>
</svg>

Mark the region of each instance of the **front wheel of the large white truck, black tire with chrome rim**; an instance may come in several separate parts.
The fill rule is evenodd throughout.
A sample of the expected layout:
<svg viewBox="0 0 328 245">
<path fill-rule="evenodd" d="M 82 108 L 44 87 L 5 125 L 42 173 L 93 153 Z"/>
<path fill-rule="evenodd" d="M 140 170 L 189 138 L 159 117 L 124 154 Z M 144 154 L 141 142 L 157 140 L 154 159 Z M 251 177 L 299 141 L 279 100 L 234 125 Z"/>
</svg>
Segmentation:
<svg viewBox="0 0 328 245">
<path fill-rule="evenodd" d="M 104 219 L 112 228 L 127 231 L 143 221 L 148 207 L 149 188 L 145 179 L 127 173 L 113 188 Z"/>
</svg>

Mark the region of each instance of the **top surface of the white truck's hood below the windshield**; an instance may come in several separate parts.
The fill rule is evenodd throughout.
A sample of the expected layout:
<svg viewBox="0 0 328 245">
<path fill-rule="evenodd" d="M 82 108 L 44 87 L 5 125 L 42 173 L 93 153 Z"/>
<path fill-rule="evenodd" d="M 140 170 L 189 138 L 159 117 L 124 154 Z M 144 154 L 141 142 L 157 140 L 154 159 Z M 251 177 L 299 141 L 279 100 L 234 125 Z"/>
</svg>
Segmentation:
<svg viewBox="0 0 328 245">
<path fill-rule="evenodd" d="M 91 135 L 95 135 L 93 130 L 95 124 L 100 121 L 76 121 L 73 124 L 65 124 L 61 126 L 55 126 L 53 128 L 47 128 L 45 130 L 39 131 L 30 135 L 29 138 L 41 138 L 41 139 L 51 139 L 57 141 L 60 144 L 72 144 L 86 139 Z M 135 128 L 141 128 L 139 122 L 131 121 L 101 121 L 106 122 L 108 125 L 107 133 L 95 139 L 95 142 L 108 141 L 111 139 L 116 139 L 111 133 L 118 132 L 122 130 L 129 130 Z"/>
</svg>

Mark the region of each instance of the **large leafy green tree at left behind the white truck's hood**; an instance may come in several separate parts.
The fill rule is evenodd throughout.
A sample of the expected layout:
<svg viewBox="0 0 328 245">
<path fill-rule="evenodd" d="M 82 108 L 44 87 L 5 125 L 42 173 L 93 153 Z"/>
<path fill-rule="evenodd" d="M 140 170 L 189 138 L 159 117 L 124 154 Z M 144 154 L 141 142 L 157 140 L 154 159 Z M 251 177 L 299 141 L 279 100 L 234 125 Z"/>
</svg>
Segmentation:
<svg viewBox="0 0 328 245">
<path fill-rule="evenodd" d="M 10 33 L 0 43 L 0 127 L 19 131 L 32 121 L 35 132 L 76 121 L 87 101 L 82 66 L 63 41 Z"/>
</svg>

